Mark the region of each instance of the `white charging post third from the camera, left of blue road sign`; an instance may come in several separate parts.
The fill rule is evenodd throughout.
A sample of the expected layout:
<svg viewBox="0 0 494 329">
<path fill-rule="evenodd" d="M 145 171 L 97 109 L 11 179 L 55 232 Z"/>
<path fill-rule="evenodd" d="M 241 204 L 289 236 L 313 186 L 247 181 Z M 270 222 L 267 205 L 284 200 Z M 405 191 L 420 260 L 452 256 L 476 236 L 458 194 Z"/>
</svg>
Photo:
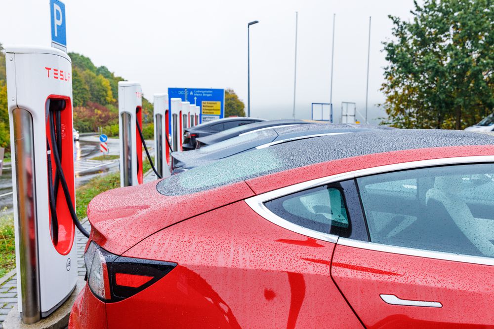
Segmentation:
<svg viewBox="0 0 494 329">
<path fill-rule="evenodd" d="M 155 136 L 155 164 L 156 170 L 163 177 L 165 163 L 170 164 L 170 149 L 168 147 L 169 110 L 168 95 L 154 94 L 153 102 L 154 136 Z"/>
</svg>

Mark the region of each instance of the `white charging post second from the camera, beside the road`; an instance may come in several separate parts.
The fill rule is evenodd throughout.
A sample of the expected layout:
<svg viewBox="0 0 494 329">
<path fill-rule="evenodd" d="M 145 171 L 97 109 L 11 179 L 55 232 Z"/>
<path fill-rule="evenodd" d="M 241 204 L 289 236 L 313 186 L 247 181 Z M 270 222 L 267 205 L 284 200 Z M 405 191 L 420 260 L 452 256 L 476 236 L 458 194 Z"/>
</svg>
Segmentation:
<svg viewBox="0 0 494 329">
<path fill-rule="evenodd" d="M 120 186 L 142 184 L 142 92 L 138 82 L 119 82 Z"/>
</svg>

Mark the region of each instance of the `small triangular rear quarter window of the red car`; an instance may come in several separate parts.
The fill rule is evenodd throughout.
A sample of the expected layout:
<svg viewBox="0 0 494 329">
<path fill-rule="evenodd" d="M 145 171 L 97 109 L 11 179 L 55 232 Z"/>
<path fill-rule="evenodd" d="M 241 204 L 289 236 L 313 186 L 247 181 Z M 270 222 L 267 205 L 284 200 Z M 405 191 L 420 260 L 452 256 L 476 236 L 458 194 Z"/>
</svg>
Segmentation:
<svg viewBox="0 0 494 329">
<path fill-rule="evenodd" d="M 274 214 L 296 225 L 349 237 L 351 228 L 339 188 L 320 186 L 265 203 Z"/>
</svg>

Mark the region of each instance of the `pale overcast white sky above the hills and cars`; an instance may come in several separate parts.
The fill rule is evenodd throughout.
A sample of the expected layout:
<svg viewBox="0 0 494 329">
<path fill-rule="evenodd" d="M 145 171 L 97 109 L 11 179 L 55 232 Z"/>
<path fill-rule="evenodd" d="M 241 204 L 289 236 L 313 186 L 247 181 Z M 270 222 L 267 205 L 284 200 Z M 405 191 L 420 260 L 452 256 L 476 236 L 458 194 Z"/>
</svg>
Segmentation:
<svg viewBox="0 0 494 329">
<path fill-rule="evenodd" d="M 48 0 L 2 1 L 0 42 L 50 45 Z M 388 15 L 410 19 L 412 0 L 65 0 L 67 47 L 129 81 L 152 102 L 168 87 L 232 88 L 247 108 L 247 23 L 250 27 L 251 116 L 290 118 L 293 110 L 295 11 L 298 11 L 296 118 L 311 103 L 329 103 L 335 16 L 333 118 L 342 102 L 365 113 L 369 16 L 369 122 L 385 112 Z M 364 121 L 357 115 L 357 119 Z"/>
</svg>

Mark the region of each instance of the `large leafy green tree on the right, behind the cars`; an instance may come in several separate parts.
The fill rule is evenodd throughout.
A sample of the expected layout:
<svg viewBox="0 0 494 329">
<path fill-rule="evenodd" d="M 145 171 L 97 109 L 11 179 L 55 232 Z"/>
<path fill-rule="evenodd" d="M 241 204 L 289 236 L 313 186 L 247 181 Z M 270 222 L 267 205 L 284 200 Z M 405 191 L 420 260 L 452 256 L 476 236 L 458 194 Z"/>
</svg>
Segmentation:
<svg viewBox="0 0 494 329">
<path fill-rule="evenodd" d="M 494 2 L 414 1 L 413 19 L 393 21 L 381 91 L 389 124 L 455 128 L 494 109 Z"/>
</svg>

